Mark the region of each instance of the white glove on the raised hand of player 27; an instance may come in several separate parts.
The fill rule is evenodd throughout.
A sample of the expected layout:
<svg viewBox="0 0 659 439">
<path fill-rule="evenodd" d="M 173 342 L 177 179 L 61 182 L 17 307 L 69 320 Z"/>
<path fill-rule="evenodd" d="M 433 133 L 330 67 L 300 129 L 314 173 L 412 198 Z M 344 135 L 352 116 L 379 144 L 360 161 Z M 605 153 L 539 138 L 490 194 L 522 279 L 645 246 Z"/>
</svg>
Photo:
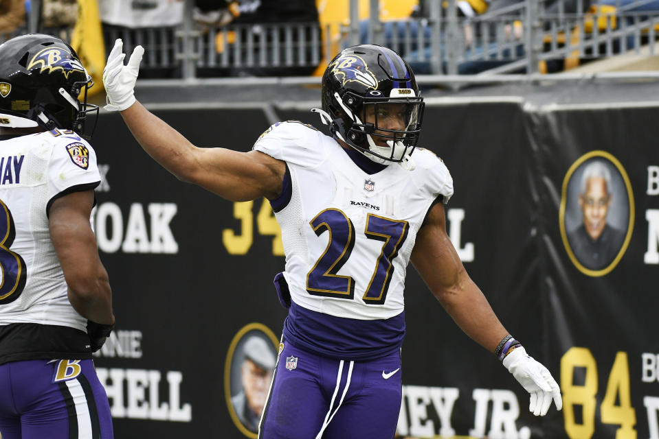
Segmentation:
<svg viewBox="0 0 659 439">
<path fill-rule="evenodd" d="M 103 85 L 107 93 L 107 105 L 104 107 L 109 111 L 123 111 L 135 104 L 133 88 L 139 73 L 139 63 L 142 62 L 144 47 L 137 46 L 133 54 L 124 66 L 124 43 L 117 38 L 114 47 L 108 56 L 108 62 L 103 69 Z"/>
</svg>

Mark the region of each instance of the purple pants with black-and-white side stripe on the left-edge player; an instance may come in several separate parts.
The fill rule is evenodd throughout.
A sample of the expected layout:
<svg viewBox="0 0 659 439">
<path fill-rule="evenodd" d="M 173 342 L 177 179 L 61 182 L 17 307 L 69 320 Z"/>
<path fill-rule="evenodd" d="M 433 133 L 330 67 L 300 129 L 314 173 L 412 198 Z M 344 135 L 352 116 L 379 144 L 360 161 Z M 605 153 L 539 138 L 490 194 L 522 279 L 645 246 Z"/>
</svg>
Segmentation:
<svg viewBox="0 0 659 439">
<path fill-rule="evenodd" d="M 0 366 L 2 439 L 111 439 L 107 394 L 91 359 Z"/>
</svg>

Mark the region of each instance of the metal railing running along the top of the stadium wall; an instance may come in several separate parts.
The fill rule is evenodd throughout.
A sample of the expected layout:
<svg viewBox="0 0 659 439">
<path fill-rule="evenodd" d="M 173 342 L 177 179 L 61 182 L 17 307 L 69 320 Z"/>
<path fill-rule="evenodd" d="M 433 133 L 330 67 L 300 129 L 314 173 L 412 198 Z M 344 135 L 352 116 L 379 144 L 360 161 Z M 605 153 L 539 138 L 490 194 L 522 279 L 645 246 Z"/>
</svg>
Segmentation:
<svg viewBox="0 0 659 439">
<path fill-rule="evenodd" d="M 182 24 L 138 28 L 104 25 L 106 49 L 115 38 L 131 51 L 143 45 L 142 69 L 151 78 L 194 78 L 309 75 L 349 45 L 376 43 L 392 47 L 427 75 L 534 75 L 592 59 L 639 54 L 646 47 L 654 56 L 659 33 L 659 10 L 638 11 L 656 0 L 617 0 L 585 8 L 584 1 L 568 12 L 568 0 L 520 0 L 508 8 L 467 17 L 458 13 L 458 0 L 421 0 L 421 18 L 380 21 L 379 1 L 370 0 L 370 18 L 359 20 L 358 1 L 350 0 L 349 21 L 332 34 L 330 24 L 268 23 L 263 25 L 201 25 L 192 19 L 192 0 L 185 0 Z M 624 1 L 624 3 L 623 3 Z M 34 5 L 38 1 L 32 0 Z M 38 9 L 38 8 L 37 8 Z M 659 9 L 659 7 L 658 7 Z M 26 30 L 39 29 L 30 16 Z M 19 30 L 21 32 L 21 30 Z"/>
</svg>

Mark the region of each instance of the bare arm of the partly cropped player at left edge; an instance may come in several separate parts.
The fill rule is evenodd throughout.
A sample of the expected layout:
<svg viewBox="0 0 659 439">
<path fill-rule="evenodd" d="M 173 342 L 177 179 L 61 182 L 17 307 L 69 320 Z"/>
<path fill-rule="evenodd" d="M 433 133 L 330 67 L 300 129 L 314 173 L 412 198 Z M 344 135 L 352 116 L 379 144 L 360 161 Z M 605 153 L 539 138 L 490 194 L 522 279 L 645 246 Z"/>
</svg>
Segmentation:
<svg viewBox="0 0 659 439">
<path fill-rule="evenodd" d="M 54 200 L 49 210 L 50 237 L 69 287 L 71 305 L 93 322 L 114 324 L 112 291 L 89 223 L 93 199 L 89 190 Z"/>
</svg>

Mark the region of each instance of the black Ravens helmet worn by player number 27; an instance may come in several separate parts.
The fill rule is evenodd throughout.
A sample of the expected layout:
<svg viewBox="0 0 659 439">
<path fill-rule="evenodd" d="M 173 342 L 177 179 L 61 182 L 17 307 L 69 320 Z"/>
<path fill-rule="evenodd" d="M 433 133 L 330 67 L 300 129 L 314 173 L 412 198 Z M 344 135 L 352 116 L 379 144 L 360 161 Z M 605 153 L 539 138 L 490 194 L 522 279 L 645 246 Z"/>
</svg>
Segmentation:
<svg viewBox="0 0 659 439">
<path fill-rule="evenodd" d="M 378 126 L 384 104 L 400 104 L 401 128 Z M 396 52 L 377 45 L 342 50 L 322 78 L 322 109 L 332 119 L 332 134 L 377 163 L 403 161 L 412 154 L 423 117 L 414 72 Z M 367 122 L 366 115 L 375 122 Z M 375 138 L 386 140 L 377 145 Z M 383 142 L 379 142 L 383 143 Z"/>
</svg>

